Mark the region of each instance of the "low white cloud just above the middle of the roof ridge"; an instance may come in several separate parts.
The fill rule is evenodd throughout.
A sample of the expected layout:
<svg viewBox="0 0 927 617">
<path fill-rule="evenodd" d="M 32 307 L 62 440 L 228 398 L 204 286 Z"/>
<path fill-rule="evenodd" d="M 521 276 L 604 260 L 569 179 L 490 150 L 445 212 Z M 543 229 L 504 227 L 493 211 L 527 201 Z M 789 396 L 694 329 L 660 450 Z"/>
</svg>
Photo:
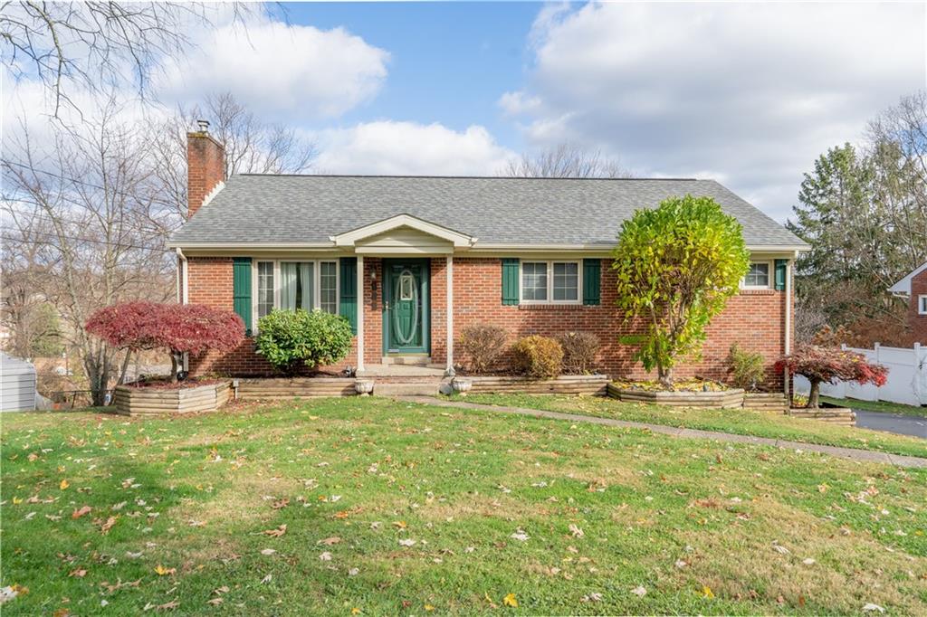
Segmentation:
<svg viewBox="0 0 927 617">
<path fill-rule="evenodd" d="M 324 173 L 494 175 L 514 156 L 481 126 L 380 120 L 317 135 Z"/>
</svg>

